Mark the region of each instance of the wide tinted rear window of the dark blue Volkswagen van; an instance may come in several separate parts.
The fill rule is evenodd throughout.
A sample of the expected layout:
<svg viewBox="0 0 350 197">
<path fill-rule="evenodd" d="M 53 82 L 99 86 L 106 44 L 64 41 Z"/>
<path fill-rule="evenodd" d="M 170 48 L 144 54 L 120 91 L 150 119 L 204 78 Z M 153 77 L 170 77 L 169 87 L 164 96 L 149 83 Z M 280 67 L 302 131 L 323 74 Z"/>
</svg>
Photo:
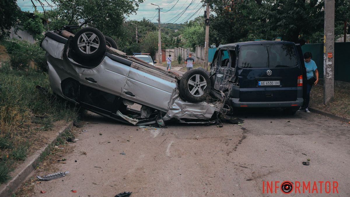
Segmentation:
<svg viewBox="0 0 350 197">
<path fill-rule="evenodd" d="M 241 68 L 291 68 L 297 65 L 293 45 L 245 45 L 239 50 L 238 66 Z"/>
</svg>

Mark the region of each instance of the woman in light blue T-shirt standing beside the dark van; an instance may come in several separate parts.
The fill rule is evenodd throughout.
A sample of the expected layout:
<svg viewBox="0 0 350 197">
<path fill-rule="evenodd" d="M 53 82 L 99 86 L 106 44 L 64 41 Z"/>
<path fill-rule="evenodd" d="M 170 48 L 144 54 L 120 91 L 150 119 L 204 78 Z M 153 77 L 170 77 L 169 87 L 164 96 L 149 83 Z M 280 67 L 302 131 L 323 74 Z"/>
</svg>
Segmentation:
<svg viewBox="0 0 350 197">
<path fill-rule="evenodd" d="M 304 63 L 306 68 L 306 99 L 304 100 L 303 106 L 300 107 L 300 110 L 304 109 L 306 113 L 309 111 L 309 102 L 310 102 L 310 91 L 313 85 L 318 83 L 318 70 L 314 60 L 311 60 L 312 54 L 310 52 L 304 53 Z M 316 77 L 315 77 L 316 76 Z"/>
</svg>

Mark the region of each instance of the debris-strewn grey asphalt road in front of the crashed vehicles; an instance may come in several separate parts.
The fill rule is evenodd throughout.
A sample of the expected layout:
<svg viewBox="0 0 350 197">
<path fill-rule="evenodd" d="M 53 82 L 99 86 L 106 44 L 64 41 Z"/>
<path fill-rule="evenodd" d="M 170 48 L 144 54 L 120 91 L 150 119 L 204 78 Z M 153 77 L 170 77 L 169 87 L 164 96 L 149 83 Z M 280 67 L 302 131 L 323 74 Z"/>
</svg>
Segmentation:
<svg viewBox="0 0 350 197">
<path fill-rule="evenodd" d="M 32 196 L 114 196 L 124 191 L 132 191 L 131 196 L 281 196 L 280 188 L 274 193 L 275 181 L 277 186 L 292 182 L 290 196 L 301 196 L 294 190 L 303 181 L 310 181 L 313 191 L 305 190 L 304 196 L 350 196 L 350 124 L 303 111 L 295 116 L 282 110 L 236 115 L 243 124 L 174 123 L 145 130 L 89 113 L 84 121 L 98 124 L 80 128 L 87 132 L 76 136 L 66 164 L 56 164 L 70 173 L 35 185 Z M 308 158 L 310 165 L 303 165 Z M 273 194 L 266 194 L 266 181 L 273 182 Z M 330 190 L 324 190 L 327 181 Z M 338 193 L 333 194 L 335 181 Z"/>
</svg>

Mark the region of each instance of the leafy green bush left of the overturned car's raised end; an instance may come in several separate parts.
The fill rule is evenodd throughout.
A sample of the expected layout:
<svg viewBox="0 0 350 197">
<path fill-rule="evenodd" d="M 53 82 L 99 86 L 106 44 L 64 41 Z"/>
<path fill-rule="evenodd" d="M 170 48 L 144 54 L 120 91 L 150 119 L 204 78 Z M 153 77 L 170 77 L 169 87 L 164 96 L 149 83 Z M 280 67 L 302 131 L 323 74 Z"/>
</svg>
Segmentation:
<svg viewBox="0 0 350 197">
<path fill-rule="evenodd" d="M 7 53 L 10 56 L 10 65 L 14 70 L 26 70 L 35 67 L 42 72 L 47 72 L 45 51 L 38 45 L 27 41 L 9 40 L 5 43 Z"/>
</svg>

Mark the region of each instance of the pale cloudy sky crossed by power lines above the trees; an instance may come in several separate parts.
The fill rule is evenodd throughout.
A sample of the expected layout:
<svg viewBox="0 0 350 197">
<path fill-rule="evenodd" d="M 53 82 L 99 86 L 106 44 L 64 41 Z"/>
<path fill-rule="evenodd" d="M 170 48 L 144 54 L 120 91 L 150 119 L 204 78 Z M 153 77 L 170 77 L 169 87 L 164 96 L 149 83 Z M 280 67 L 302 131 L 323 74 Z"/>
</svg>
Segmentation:
<svg viewBox="0 0 350 197">
<path fill-rule="evenodd" d="M 204 14 L 201 0 L 145 0 L 139 5 L 137 13 L 126 17 L 127 20 L 142 20 L 145 17 L 152 22 L 158 22 L 158 9 L 155 9 L 158 6 L 151 5 L 151 3 L 163 8 L 160 12 L 160 22 L 162 23 L 184 23 Z M 34 12 L 30 0 L 18 0 L 17 4 L 22 11 Z M 48 6 L 44 8 L 51 9 Z M 38 3 L 37 10 L 40 12 L 43 10 Z"/>
</svg>

